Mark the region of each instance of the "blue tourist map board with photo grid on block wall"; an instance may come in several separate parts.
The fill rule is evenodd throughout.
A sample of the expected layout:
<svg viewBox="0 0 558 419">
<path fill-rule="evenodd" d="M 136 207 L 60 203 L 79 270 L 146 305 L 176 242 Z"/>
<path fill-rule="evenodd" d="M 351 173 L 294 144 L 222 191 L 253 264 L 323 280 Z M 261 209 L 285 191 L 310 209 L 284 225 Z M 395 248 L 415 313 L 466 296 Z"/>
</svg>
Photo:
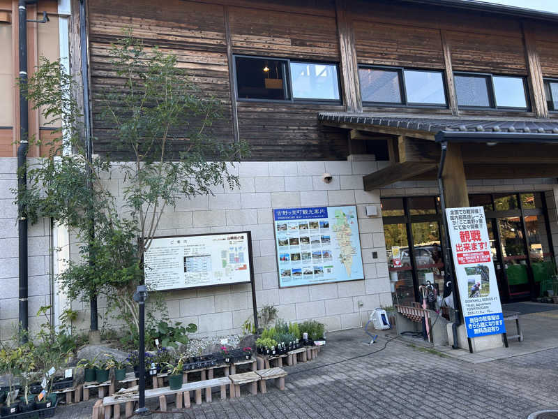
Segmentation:
<svg viewBox="0 0 558 419">
<path fill-rule="evenodd" d="M 363 279 L 356 207 L 273 210 L 279 286 Z"/>
</svg>

